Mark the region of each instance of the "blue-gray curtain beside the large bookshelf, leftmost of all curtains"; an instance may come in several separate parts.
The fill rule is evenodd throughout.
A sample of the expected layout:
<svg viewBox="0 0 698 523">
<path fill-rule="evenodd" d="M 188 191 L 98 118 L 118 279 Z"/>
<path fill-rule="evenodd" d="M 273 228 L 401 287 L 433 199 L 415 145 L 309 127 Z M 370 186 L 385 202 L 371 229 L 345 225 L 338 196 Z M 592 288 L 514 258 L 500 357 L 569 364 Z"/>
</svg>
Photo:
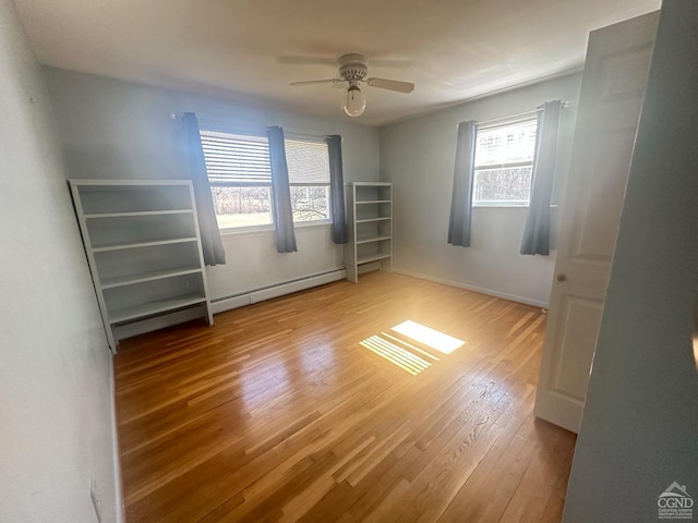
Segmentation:
<svg viewBox="0 0 698 523">
<path fill-rule="evenodd" d="M 194 200 L 196 202 L 204 264 L 221 265 L 226 263 L 226 251 L 222 246 L 218 222 L 216 221 L 214 199 L 210 194 L 210 184 L 206 172 L 204 149 L 201 146 L 196 114 L 185 112 L 182 122 L 184 124 L 186 169 L 194 186 Z"/>
</svg>

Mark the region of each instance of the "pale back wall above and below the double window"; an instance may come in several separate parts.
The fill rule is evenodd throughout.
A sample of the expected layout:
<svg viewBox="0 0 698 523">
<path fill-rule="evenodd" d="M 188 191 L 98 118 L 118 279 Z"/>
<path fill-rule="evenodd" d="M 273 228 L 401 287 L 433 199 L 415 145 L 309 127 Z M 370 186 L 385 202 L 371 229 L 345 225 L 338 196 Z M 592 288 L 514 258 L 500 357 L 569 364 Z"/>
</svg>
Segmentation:
<svg viewBox="0 0 698 523">
<path fill-rule="evenodd" d="M 287 132 L 340 134 L 345 182 L 380 173 L 378 131 L 340 115 L 321 119 L 246 100 L 195 95 L 58 69 L 45 69 L 69 178 L 185 178 L 181 121 L 170 114 Z M 208 268 L 213 299 L 342 267 L 329 226 L 298 227 L 298 253 L 278 254 L 272 231 L 224 235 L 227 264 Z"/>
</svg>

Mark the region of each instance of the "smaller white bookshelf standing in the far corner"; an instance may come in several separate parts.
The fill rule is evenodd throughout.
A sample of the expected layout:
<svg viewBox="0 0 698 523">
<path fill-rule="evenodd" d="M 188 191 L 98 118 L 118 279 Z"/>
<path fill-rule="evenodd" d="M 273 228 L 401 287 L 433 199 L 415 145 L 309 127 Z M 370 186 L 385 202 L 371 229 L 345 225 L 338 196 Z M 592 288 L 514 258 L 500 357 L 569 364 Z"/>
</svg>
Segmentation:
<svg viewBox="0 0 698 523">
<path fill-rule="evenodd" d="M 393 262 L 393 184 L 347 184 L 349 241 L 345 246 L 347 279 L 359 281 L 362 269 L 390 271 Z"/>
</svg>

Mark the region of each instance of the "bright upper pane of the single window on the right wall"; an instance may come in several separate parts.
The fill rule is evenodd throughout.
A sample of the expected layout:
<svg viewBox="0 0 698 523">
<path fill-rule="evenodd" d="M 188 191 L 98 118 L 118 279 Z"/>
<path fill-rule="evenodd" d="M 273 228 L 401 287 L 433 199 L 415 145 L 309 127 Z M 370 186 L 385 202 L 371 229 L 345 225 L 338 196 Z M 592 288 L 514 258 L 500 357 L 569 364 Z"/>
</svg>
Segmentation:
<svg viewBox="0 0 698 523">
<path fill-rule="evenodd" d="M 535 150 L 537 120 L 478 130 L 476 167 L 531 161 Z"/>
</svg>

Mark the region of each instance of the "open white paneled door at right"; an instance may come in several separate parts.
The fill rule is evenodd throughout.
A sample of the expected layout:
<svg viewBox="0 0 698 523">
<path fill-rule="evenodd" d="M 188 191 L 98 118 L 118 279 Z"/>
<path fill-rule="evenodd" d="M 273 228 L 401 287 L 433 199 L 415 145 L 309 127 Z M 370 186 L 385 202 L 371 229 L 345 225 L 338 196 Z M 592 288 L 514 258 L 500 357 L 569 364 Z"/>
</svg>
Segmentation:
<svg viewBox="0 0 698 523">
<path fill-rule="evenodd" d="M 659 13 L 589 35 L 535 415 L 578 431 Z"/>
</svg>

